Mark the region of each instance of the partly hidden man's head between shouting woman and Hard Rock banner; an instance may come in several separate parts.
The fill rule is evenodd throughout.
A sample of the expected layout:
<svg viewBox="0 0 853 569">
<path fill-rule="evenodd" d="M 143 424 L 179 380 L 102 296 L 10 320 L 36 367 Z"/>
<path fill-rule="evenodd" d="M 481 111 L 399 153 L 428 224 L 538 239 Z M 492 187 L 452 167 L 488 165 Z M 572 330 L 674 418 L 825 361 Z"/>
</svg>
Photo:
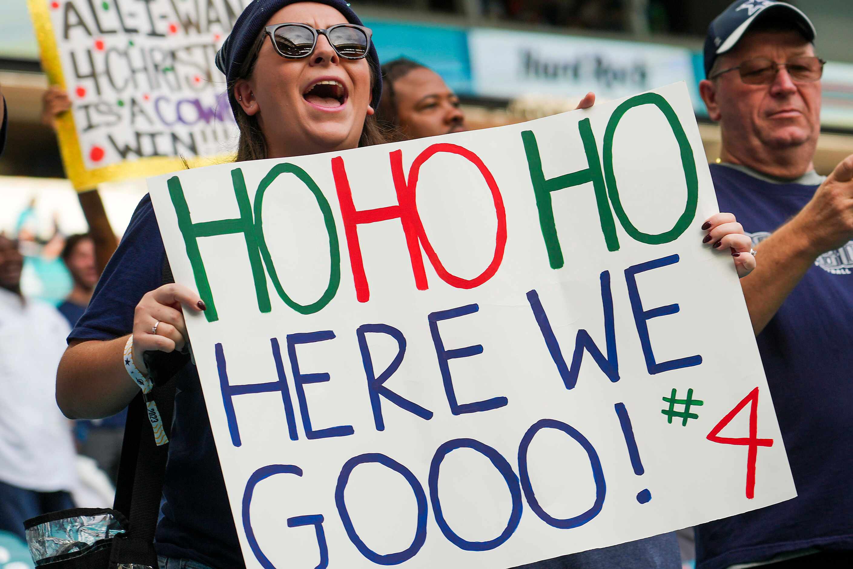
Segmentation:
<svg viewBox="0 0 853 569">
<path fill-rule="evenodd" d="M 467 131 L 459 97 L 429 67 L 401 57 L 382 66 L 382 78 L 377 117 L 405 138 Z"/>
</svg>

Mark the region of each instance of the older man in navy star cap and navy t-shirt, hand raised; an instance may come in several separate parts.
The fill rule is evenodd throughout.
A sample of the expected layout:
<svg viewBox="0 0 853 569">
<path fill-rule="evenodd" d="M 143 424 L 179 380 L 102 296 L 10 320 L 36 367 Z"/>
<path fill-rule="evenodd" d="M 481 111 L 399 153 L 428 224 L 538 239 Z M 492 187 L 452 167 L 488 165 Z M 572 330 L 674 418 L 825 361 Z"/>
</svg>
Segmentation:
<svg viewBox="0 0 853 569">
<path fill-rule="evenodd" d="M 761 257 L 740 282 L 798 497 L 700 525 L 699 569 L 853 566 L 853 156 L 815 173 L 815 36 L 791 4 L 739 0 L 705 39 L 711 176 Z"/>
</svg>

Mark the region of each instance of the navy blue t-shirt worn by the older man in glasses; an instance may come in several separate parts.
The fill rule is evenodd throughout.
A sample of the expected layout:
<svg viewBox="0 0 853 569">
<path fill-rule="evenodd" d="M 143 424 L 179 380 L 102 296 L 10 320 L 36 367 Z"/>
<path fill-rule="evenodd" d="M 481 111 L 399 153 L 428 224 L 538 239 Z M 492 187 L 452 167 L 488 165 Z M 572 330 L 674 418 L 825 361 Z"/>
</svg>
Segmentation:
<svg viewBox="0 0 853 569">
<path fill-rule="evenodd" d="M 711 165 L 711 177 L 720 211 L 734 213 L 756 243 L 818 188 L 765 182 L 721 165 Z M 853 241 L 821 255 L 757 337 L 798 496 L 697 527 L 699 569 L 798 549 L 853 550 L 851 271 Z M 760 419 L 758 429 L 761 436 Z"/>
</svg>

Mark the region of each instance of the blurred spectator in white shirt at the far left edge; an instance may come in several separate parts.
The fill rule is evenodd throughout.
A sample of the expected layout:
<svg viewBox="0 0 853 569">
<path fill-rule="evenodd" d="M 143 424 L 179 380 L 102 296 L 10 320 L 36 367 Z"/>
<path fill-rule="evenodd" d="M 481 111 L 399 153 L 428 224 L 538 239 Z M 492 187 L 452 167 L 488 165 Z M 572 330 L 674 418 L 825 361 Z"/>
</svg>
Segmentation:
<svg viewBox="0 0 853 569">
<path fill-rule="evenodd" d="M 24 259 L 0 234 L 0 531 L 73 508 L 74 448 L 55 400 L 56 366 L 70 328 L 53 306 L 20 293 Z"/>
</svg>

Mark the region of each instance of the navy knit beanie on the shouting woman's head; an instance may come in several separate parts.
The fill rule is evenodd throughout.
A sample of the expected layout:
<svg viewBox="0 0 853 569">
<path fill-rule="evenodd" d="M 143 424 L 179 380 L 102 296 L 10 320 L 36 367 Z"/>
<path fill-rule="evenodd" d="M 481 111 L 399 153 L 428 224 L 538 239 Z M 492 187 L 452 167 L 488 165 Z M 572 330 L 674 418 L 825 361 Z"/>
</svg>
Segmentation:
<svg viewBox="0 0 853 569">
<path fill-rule="evenodd" d="M 219 49 L 216 55 L 216 67 L 219 71 L 225 74 L 225 78 L 230 85 L 237 78 L 237 73 L 243 64 L 243 61 L 248 57 L 252 45 L 258 39 L 258 35 L 264 31 L 267 20 L 270 20 L 273 14 L 288 4 L 297 2 L 305 2 L 306 0 L 252 0 L 243 13 L 237 18 L 234 28 L 231 30 L 228 38 Z M 356 26 L 363 26 L 362 20 L 358 18 L 355 12 L 350 8 L 350 4 L 344 0 L 310 0 L 326 4 L 338 10 L 344 15 L 346 20 Z M 283 23 L 283 22 L 282 22 Z M 376 48 L 373 42 L 370 43 L 370 50 L 367 56 L 370 67 L 373 69 L 374 85 L 373 98 L 370 106 L 379 108 L 379 100 L 382 95 L 382 71 L 379 64 L 379 55 L 376 55 Z M 231 103 L 231 111 L 237 117 L 237 109 L 239 105 L 235 101 L 234 93 L 228 90 L 228 100 Z"/>
</svg>

